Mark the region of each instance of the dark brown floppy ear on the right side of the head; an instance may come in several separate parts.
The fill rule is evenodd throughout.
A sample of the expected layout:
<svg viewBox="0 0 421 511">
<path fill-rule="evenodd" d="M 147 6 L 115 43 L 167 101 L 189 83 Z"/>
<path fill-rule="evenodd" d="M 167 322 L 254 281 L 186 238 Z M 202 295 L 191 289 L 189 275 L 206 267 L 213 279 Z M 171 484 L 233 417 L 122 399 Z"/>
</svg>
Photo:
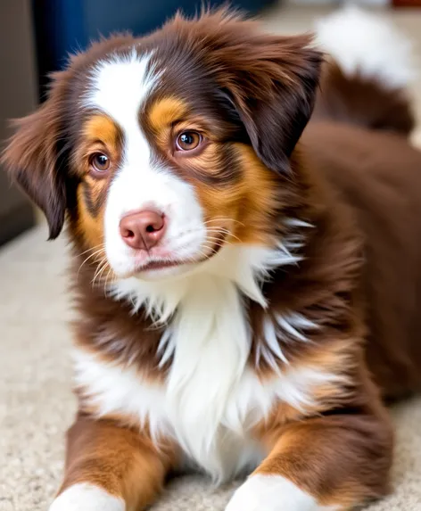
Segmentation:
<svg viewBox="0 0 421 511">
<path fill-rule="evenodd" d="M 248 22 L 244 22 L 244 28 Z M 252 23 L 251 29 L 254 29 Z M 285 172 L 310 119 L 322 54 L 311 37 L 242 33 L 227 37 L 218 59 L 220 83 L 243 120 L 255 152 L 269 169 Z"/>
</svg>

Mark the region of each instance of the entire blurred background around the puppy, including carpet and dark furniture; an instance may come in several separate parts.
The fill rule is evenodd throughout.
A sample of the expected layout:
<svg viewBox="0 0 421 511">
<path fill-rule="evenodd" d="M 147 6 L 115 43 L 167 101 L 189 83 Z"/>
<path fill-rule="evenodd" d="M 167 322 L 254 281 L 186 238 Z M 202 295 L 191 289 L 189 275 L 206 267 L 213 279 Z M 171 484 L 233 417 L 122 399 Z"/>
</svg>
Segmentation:
<svg viewBox="0 0 421 511">
<path fill-rule="evenodd" d="M 90 39 L 119 30 L 142 35 L 177 9 L 225 0 L 0 0 L 0 144 L 8 120 L 45 100 L 47 75 Z M 273 32 L 312 29 L 319 17 L 349 2 L 231 0 Z M 421 0 L 360 0 L 391 19 L 421 54 Z M 356 34 L 355 37 L 359 37 Z M 419 69 L 419 66 L 418 66 Z M 421 80 L 412 87 L 421 119 Z M 419 126 L 418 122 L 418 126 Z M 420 130 L 414 142 L 421 147 Z M 399 170 L 399 169 L 397 169 Z M 421 171 L 421 169 L 420 169 Z M 421 193 L 421 191 L 420 191 Z M 45 243 L 42 216 L 0 169 L 0 511 L 37 511 L 57 490 L 64 432 L 76 402 L 71 394 L 70 299 L 66 238 Z M 421 264 L 421 261 L 420 261 Z M 421 510 L 421 399 L 395 408 L 395 490 L 370 511 Z M 154 511 L 222 510 L 232 488 L 218 493 L 199 479 L 177 482 Z"/>
</svg>

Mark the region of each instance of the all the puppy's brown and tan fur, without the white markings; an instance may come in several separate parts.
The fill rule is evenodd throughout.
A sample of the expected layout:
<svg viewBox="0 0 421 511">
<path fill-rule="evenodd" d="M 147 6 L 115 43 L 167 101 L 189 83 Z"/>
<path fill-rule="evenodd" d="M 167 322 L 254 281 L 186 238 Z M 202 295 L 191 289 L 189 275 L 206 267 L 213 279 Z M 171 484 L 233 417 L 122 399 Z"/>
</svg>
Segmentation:
<svg viewBox="0 0 421 511">
<path fill-rule="evenodd" d="M 103 209 L 120 161 L 119 128 L 75 113 L 92 65 L 134 42 L 114 37 L 72 59 L 45 105 L 20 121 L 4 161 L 45 210 L 51 237 L 67 212 L 78 346 L 121 367 L 129 361 L 156 383 L 172 362 L 158 367 L 163 327 L 151 328 L 144 309 L 133 314 L 128 301 L 103 293 L 112 278 Z M 309 37 L 262 35 L 252 21 L 218 12 L 195 21 L 177 16 L 136 44 L 156 48 L 157 65 L 165 56 L 162 87 L 139 122 L 154 156 L 194 185 L 212 229 L 229 229 L 229 243 L 270 246 L 291 234 L 305 240 L 301 263 L 277 269 L 263 284 L 268 310 L 244 300 L 252 327 L 249 366 L 262 379 L 275 377 L 257 357 L 266 342 L 263 318 L 294 311 L 318 328 L 305 343 L 283 332 L 279 342 L 290 365 L 279 360 L 278 368 L 315 367 L 338 378 L 315 385 L 317 404 L 279 403 L 255 426 L 255 439 L 269 452 L 257 473 L 283 475 L 322 505 L 346 508 L 384 495 L 392 433 L 379 394 L 397 397 L 421 383 L 421 155 L 404 137 L 412 126 L 404 95 L 326 68 L 314 120 L 301 136 L 321 62 Z M 174 133 L 182 129 L 205 136 L 200 151 L 175 154 Z M 99 149 L 110 153 L 112 169 L 98 180 L 88 155 Z M 285 227 L 285 218 L 313 227 Z M 62 490 L 93 482 L 129 508 L 144 508 L 177 467 L 177 446 L 158 451 L 136 417 L 95 419 L 87 393 L 78 389 Z"/>
</svg>

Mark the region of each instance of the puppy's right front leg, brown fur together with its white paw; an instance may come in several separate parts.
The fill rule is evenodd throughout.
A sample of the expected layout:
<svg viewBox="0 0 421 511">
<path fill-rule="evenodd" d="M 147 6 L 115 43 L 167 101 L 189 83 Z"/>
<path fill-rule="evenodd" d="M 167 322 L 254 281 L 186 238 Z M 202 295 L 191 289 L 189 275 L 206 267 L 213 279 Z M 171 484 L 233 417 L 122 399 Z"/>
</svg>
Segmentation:
<svg viewBox="0 0 421 511">
<path fill-rule="evenodd" d="M 343 510 L 384 495 L 392 432 L 382 417 L 320 416 L 280 429 L 226 511 Z"/>
</svg>

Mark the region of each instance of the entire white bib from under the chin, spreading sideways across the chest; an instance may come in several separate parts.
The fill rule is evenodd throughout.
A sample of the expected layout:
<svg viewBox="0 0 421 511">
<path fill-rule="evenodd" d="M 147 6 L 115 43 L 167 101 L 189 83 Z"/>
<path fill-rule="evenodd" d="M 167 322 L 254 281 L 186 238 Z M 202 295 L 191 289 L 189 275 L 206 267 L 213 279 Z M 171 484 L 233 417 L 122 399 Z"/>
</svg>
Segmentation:
<svg viewBox="0 0 421 511">
<path fill-rule="evenodd" d="M 259 463 L 264 453 L 252 440 L 252 425 L 277 401 L 295 408 L 312 404 L 314 385 L 329 377 L 301 367 L 260 381 L 247 365 L 251 333 L 238 282 L 243 292 L 264 301 L 252 271 L 248 276 L 241 265 L 233 265 L 231 275 L 234 268 L 242 276 L 236 282 L 216 272 L 196 274 L 166 285 L 165 296 L 161 289 L 153 295 L 147 284 L 139 288 L 134 280 L 120 287 L 119 297 L 144 303 L 158 317 L 175 314 L 159 347 L 162 362 L 173 358 L 165 383 L 151 383 L 134 367 L 105 364 L 84 351 L 75 359 L 77 383 L 99 416 L 119 413 L 136 417 L 139 424 L 147 420 L 155 441 L 160 435 L 173 437 L 216 481 Z M 267 330 L 273 345 L 275 330 Z"/>
</svg>

